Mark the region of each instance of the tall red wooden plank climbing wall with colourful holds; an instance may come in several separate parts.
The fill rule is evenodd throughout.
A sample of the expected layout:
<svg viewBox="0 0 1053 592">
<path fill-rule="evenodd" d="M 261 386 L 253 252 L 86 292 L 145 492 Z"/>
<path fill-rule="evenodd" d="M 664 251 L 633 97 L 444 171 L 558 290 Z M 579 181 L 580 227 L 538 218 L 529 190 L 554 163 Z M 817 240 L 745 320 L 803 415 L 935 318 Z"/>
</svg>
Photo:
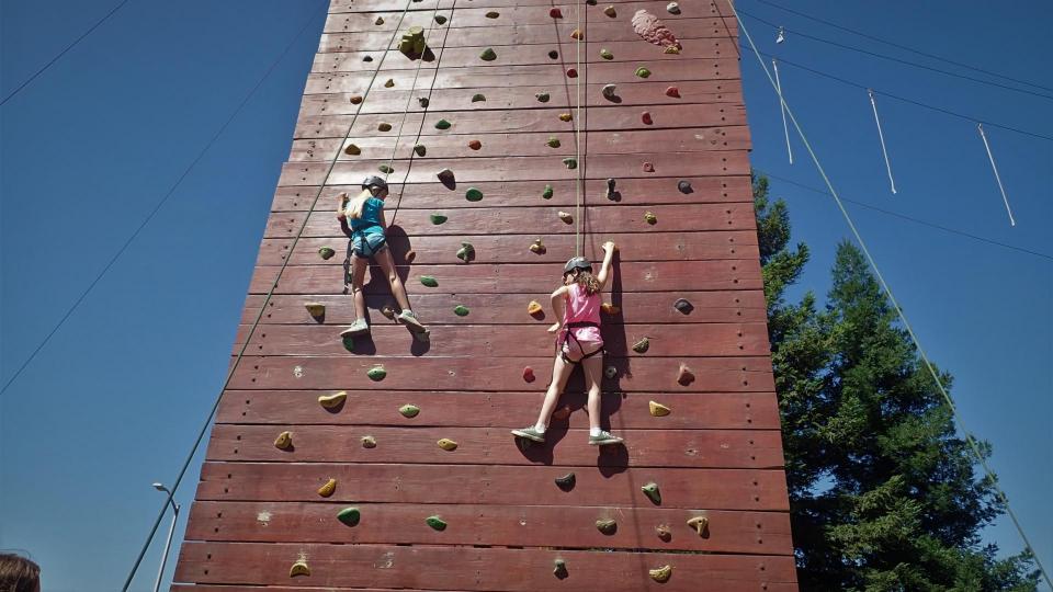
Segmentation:
<svg viewBox="0 0 1053 592">
<path fill-rule="evenodd" d="M 725 1 L 332 0 L 173 590 L 796 590 Z M 335 196 L 387 166 L 430 340 L 385 317 L 374 267 L 372 338 L 343 341 Z M 578 231 L 593 260 L 619 247 L 624 446 L 587 444 L 579 375 L 547 444 L 509 433 L 541 405 Z"/>
</svg>

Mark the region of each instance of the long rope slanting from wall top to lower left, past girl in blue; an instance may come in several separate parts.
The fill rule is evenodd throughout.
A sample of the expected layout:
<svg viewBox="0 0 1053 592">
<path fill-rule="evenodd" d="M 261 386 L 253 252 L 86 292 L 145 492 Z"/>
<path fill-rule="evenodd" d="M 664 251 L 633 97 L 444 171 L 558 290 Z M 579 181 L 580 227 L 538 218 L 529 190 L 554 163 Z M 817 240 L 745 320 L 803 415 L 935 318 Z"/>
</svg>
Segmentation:
<svg viewBox="0 0 1053 592">
<path fill-rule="evenodd" d="M 406 14 L 409 12 L 409 7 L 414 0 L 406 0 L 406 7 L 403 9 L 403 13 L 399 16 L 398 23 L 395 25 L 392 38 L 388 41 L 385 46 L 384 55 L 381 56 L 381 61 L 376 66 L 373 76 L 370 78 L 370 83 L 366 86 L 365 93 L 362 99 L 361 104 L 365 104 L 365 101 L 370 96 L 370 91 L 373 90 L 373 84 L 376 81 L 376 77 L 381 71 L 381 68 L 384 65 L 384 60 L 387 58 L 387 54 L 390 50 L 392 44 L 395 43 L 395 36 L 398 35 L 398 31 L 403 25 L 403 21 L 406 19 Z M 124 582 L 122 592 L 127 592 L 128 587 L 132 585 L 132 580 L 135 578 L 136 571 L 138 571 L 139 565 L 143 562 L 143 557 L 146 555 L 146 550 L 149 548 L 150 543 L 154 540 L 154 535 L 157 534 L 157 528 L 161 524 L 161 520 L 165 517 L 166 512 L 168 511 L 168 505 L 172 502 L 172 498 L 176 496 L 176 491 L 179 490 L 179 486 L 183 480 L 183 477 L 186 475 L 186 469 L 190 467 L 191 462 L 194 458 L 194 455 L 197 453 L 197 448 L 201 447 L 201 443 L 204 441 L 205 434 L 208 432 L 208 424 L 212 423 L 213 418 L 216 414 L 216 410 L 219 408 L 219 401 L 223 399 L 223 394 L 226 391 L 227 387 L 230 385 L 230 379 L 234 377 L 234 373 L 237 372 L 238 366 L 241 363 L 242 357 L 245 356 L 246 350 L 249 348 L 249 342 L 252 340 L 252 335 L 256 334 L 256 329 L 260 325 L 260 320 L 263 318 L 263 312 L 267 310 L 268 304 L 271 301 L 271 298 L 274 296 L 274 291 L 278 288 L 278 282 L 282 278 L 282 274 L 285 272 L 285 267 L 288 266 L 288 261 L 292 259 L 292 253 L 296 250 L 296 244 L 299 243 L 301 237 L 304 235 L 304 230 L 307 228 L 307 221 L 310 219 L 310 215 L 315 212 L 315 206 L 318 205 L 318 200 L 321 197 L 321 193 L 325 191 L 326 184 L 329 181 L 329 175 L 332 173 L 332 169 L 336 167 L 337 161 L 340 159 L 340 152 L 343 151 L 343 146 L 347 144 L 348 139 L 351 137 L 351 130 L 354 129 L 354 123 L 359 118 L 359 114 L 362 112 L 360 106 L 355 110 L 354 115 L 351 117 L 351 123 L 348 125 L 348 132 L 344 134 L 343 141 L 337 147 L 336 153 L 332 157 L 332 160 L 329 161 L 329 167 L 326 170 L 326 174 L 321 180 L 321 183 L 318 185 L 318 191 L 315 193 L 315 197 L 310 203 L 310 207 L 307 210 L 307 215 L 304 216 L 303 223 L 299 225 L 299 229 L 296 231 L 296 236 L 293 237 L 293 242 L 288 248 L 290 257 L 286 257 L 281 266 L 278 270 L 278 274 L 274 276 L 274 281 L 271 283 L 271 287 L 268 288 L 267 295 L 263 298 L 263 303 L 260 305 L 260 310 L 256 315 L 256 319 L 252 321 L 252 326 L 249 328 L 249 332 L 245 338 L 245 342 L 241 344 L 241 349 L 238 351 L 238 355 L 235 357 L 234 363 L 230 364 L 230 368 L 227 371 L 227 376 L 223 382 L 223 386 L 219 388 L 219 394 L 216 395 L 215 401 L 213 401 L 212 409 L 208 412 L 208 417 L 205 418 L 204 423 L 201 426 L 201 430 L 197 433 L 197 439 L 194 441 L 194 445 L 190 451 L 190 454 L 186 455 L 186 459 L 183 462 L 182 468 L 179 470 L 179 476 L 172 481 L 172 488 L 169 490 L 168 496 L 165 498 L 165 503 L 161 505 L 161 511 L 157 515 L 157 520 L 154 521 L 154 526 L 150 528 L 149 535 L 146 537 L 146 543 L 144 543 L 143 548 L 139 550 L 139 555 L 135 560 L 135 565 L 132 567 L 132 571 L 128 573 L 127 579 Z"/>
</svg>

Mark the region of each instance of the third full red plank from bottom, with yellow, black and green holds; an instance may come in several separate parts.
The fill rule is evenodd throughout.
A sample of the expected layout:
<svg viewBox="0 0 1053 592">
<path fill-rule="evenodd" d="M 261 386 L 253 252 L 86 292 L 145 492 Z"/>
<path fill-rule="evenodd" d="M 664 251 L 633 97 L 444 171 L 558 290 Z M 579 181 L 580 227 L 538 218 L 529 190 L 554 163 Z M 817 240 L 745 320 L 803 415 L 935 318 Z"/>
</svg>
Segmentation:
<svg viewBox="0 0 1053 592">
<path fill-rule="evenodd" d="M 554 479 L 574 471 L 564 491 Z M 631 505 L 641 486 L 658 483 L 661 508 L 786 511 L 782 470 L 629 467 L 596 463 L 580 467 L 544 465 L 388 465 L 326 463 L 205 462 L 199 500 L 317 501 L 317 490 L 337 479 L 331 503 L 398 502 L 469 505 Z M 435 492 L 442 496 L 437 497 Z"/>
</svg>

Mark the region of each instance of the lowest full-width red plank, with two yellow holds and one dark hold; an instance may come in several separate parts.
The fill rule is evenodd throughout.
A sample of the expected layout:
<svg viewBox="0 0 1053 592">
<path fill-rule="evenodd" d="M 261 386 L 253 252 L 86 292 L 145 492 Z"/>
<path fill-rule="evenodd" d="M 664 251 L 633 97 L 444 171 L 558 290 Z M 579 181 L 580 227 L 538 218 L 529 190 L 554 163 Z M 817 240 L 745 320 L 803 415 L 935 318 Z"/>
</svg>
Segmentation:
<svg viewBox="0 0 1053 592">
<path fill-rule="evenodd" d="M 309 577 L 293 580 L 288 568 L 302 556 L 314 567 Z M 566 561 L 565 579 L 552 573 L 556 558 Z M 665 565 L 673 576 L 653 581 L 648 569 Z M 434 566 L 443 568 L 428 569 Z M 790 587 L 794 563 L 786 556 L 196 542 L 183 545 L 174 580 L 517 592 L 755 592 L 759 582 L 768 592 L 796 589 Z"/>
</svg>

